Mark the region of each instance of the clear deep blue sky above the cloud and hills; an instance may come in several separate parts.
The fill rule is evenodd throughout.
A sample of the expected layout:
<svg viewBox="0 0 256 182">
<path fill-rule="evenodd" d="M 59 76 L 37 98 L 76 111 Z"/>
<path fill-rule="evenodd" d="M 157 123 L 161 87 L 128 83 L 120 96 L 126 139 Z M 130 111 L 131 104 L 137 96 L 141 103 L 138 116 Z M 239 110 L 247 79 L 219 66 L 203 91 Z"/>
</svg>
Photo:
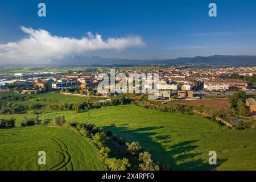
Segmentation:
<svg viewBox="0 0 256 182">
<path fill-rule="evenodd" d="M 44 2 L 47 16 L 38 16 Z M 209 17 L 208 5 L 217 5 Z M 51 35 L 81 39 L 86 32 L 102 39 L 139 36 L 144 46 L 100 49 L 84 55 L 126 59 L 181 56 L 256 55 L 256 1 L 1 1 L 1 44 L 27 34 L 21 26 Z M 80 52 L 81 53 L 81 52 Z"/>
</svg>

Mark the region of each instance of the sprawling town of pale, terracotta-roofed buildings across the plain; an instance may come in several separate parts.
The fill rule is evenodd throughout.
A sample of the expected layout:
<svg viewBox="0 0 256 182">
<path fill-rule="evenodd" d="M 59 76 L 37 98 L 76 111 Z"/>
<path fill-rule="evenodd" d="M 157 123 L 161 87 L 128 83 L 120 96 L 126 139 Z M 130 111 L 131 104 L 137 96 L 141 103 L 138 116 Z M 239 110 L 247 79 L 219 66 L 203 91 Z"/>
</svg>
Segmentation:
<svg viewBox="0 0 256 182">
<path fill-rule="evenodd" d="M 106 96 L 109 90 L 97 90 L 102 81 L 100 73 L 110 74 L 110 68 L 97 71 L 76 72 L 31 72 L 0 75 L 0 88 L 17 93 L 37 94 L 57 91 L 79 93 L 82 96 Z M 157 73 L 159 75 L 158 100 L 198 100 L 203 96 L 225 95 L 236 90 L 253 93 L 256 67 L 189 68 L 185 66 L 155 67 L 151 70 L 139 68 L 116 69 L 116 74 L 125 75 Z M 117 82 L 122 81 L 122 77 Z M 127 80 L 129 82 L 129 80 Z M 75 88 L 75 90 L 74 90 Z M 133 86 L 135 90 L 135 86 Z M 131 93 L 131 92 L 129 92 Z"/>
</svg>

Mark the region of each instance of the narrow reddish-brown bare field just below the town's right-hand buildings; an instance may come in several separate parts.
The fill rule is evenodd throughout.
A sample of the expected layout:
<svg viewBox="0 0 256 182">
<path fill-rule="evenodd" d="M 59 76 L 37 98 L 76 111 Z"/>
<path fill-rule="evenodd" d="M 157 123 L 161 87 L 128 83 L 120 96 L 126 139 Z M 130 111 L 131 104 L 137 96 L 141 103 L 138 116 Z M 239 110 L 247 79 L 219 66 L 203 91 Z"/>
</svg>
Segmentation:
<svg viewBox="0 0 256 182">
<path fill-rule="evenodd" d="M 228 98 L 213 99 L 213 100 L 178 100 L 175 104 L 191 105 L 191 106 L 205 106 L 210 108 L 228 107 Z"/>
</svg>

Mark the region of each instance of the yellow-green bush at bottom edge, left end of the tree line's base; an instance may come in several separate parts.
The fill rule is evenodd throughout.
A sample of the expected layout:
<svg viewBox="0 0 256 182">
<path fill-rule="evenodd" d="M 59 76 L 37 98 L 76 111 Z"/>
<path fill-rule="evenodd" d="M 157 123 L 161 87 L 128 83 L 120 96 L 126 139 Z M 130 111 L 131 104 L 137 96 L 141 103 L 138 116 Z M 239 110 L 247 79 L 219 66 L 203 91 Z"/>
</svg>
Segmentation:
<svg viewBox="0 0 256 182">
<path fill-rule="evenodd" d="M 126 158 L 109 158 L 105 160 L 105 164 L 108 166 L 110 171 L 125 171 L 126 168 L 131 166 L 129 160 Z"/>
</svg>

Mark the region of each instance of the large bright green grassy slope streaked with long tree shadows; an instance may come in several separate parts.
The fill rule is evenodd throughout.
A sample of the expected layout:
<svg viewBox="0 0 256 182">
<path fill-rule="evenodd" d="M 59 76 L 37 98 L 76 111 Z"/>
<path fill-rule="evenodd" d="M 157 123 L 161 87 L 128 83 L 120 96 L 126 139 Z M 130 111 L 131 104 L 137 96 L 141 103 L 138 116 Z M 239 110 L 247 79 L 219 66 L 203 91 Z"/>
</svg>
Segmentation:
<svg viewBox="0 0 256 182">
<path fill-rule="evenodd" d="M 63 111 L 40 115 L 51 119 L 93 122 L 128 141 L 138 141 L 154 160 L 172 169 L 256 169 L 256 130 L 225 130 L 197 115 L 164 113 L 123 105 L 75 114 Z M 67 122 L 67 125 L 68 125 Z M 110 123 L 115 126 L 110 126 Z M 217 152 L 217 165 L 208 164 L 208 152 Z"/>
</svg>

